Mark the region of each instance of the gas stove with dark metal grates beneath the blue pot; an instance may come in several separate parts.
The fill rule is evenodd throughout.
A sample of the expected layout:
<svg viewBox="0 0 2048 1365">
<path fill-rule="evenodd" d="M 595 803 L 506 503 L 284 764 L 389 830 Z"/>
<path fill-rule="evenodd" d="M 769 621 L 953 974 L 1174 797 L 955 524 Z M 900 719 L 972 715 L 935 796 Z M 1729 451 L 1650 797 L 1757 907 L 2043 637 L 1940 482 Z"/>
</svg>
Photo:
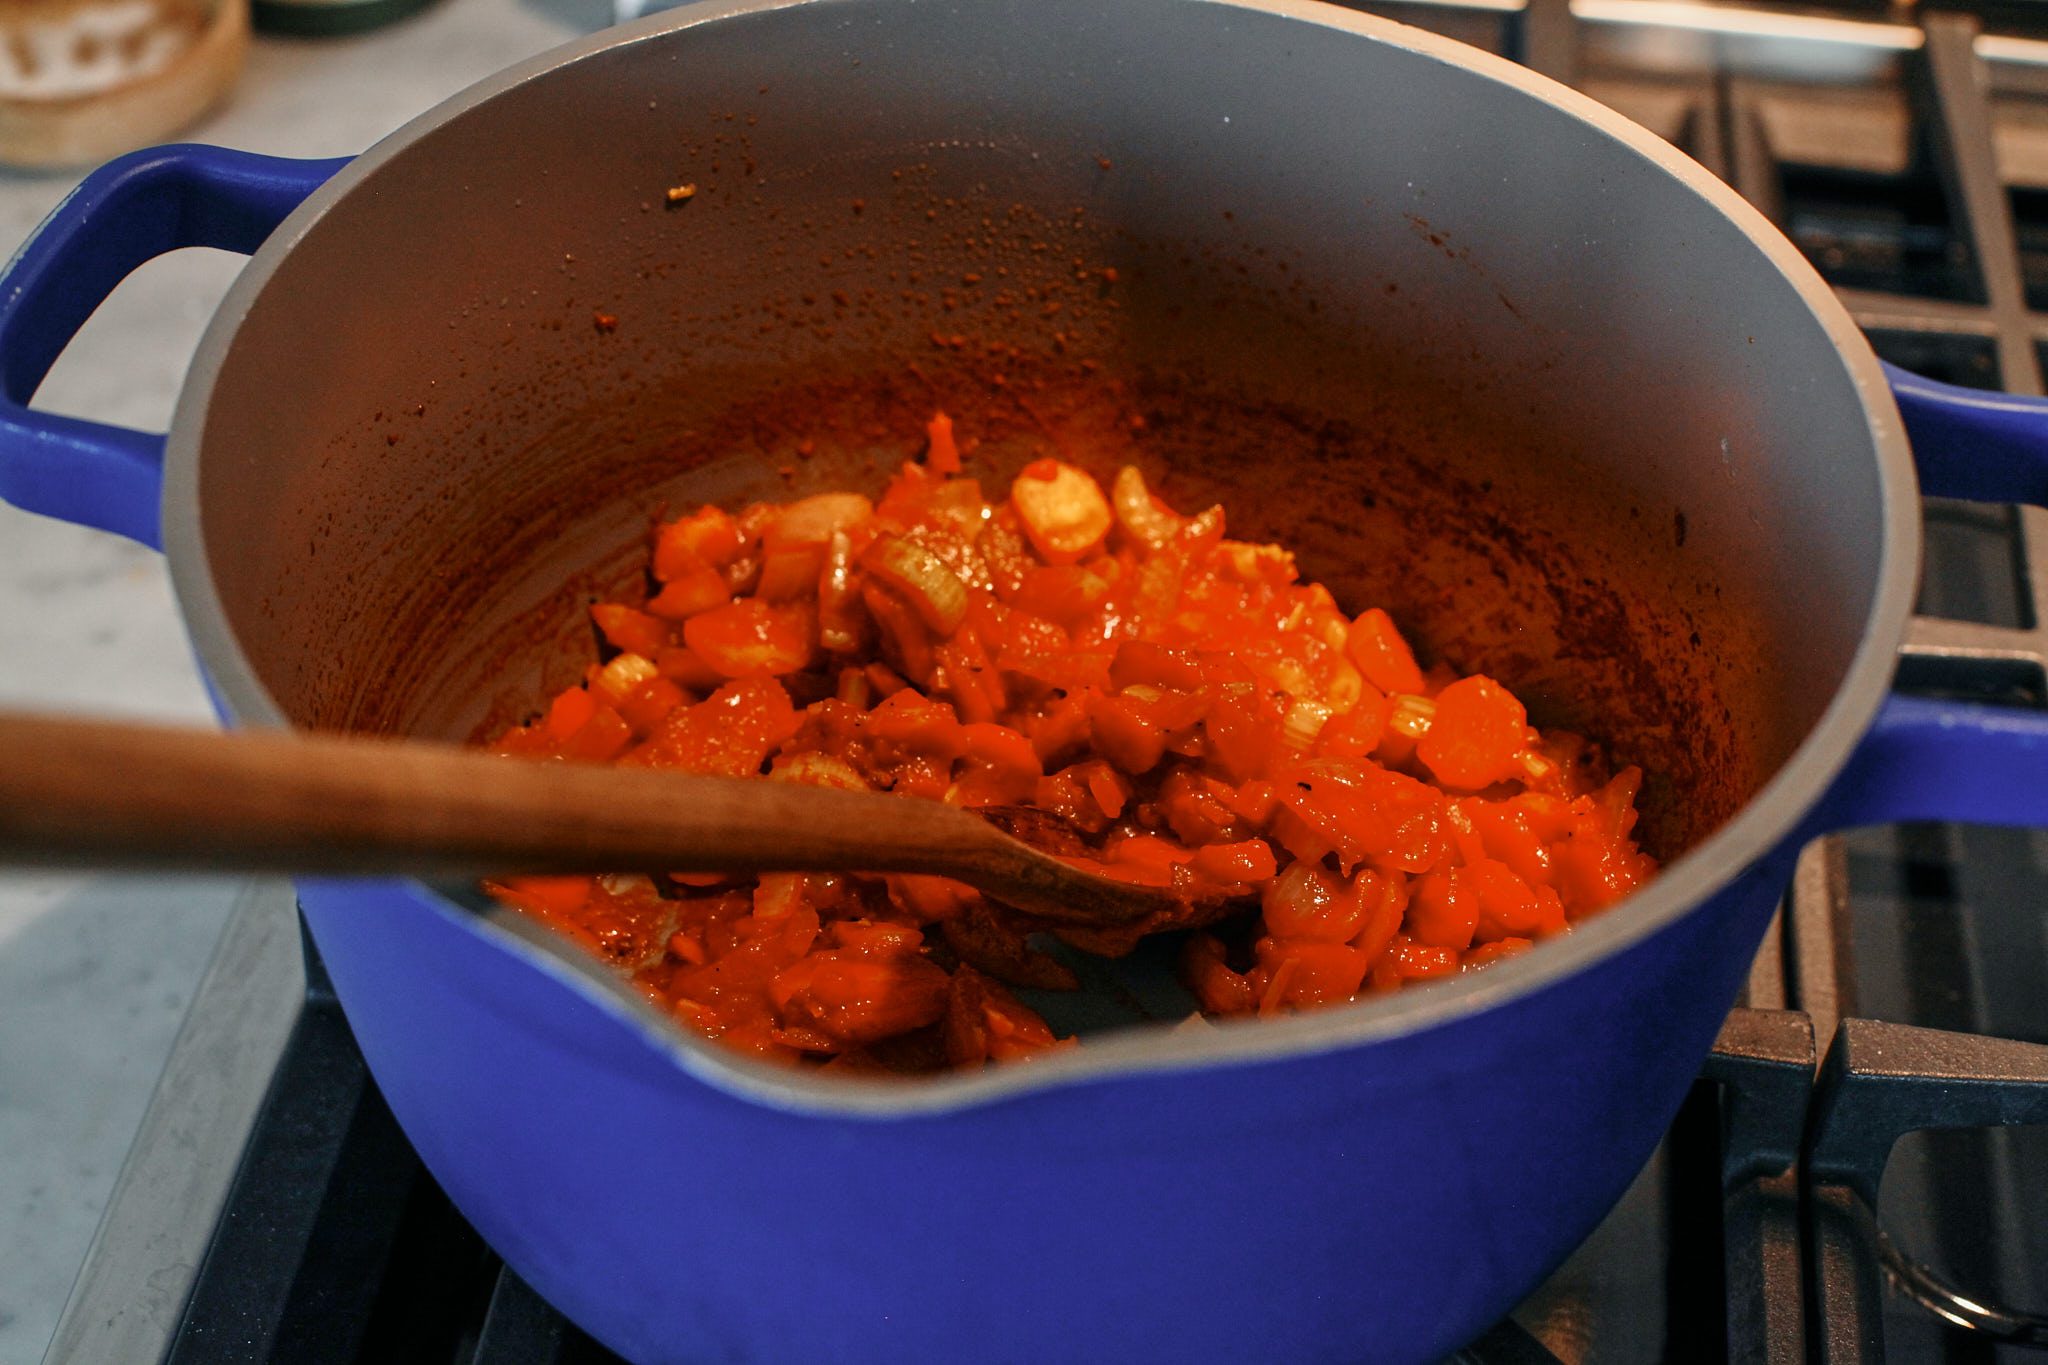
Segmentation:
<svg viewBox="0 0 2048 1365">
<path fill-rule="evenodd" d="M 1886 360 L 2044 391 L 2038 0 L 1360 8 L 1526 61 L 1686 149 L 1798 244 Z M 2032 565 L 2048 575 L 2048 512 L 1929 499 L 1901 688 L 2048 704 Z M 1960 1365 L 2048 1345 L 2044 982 L 2048 833 L 1815 843 L 1663 1146 L 1454 1359 Z M 252 888 L 45 1365 L 612 1359 L 449 1205 L 365 1072 L 289 888 Z"/>
</svg>

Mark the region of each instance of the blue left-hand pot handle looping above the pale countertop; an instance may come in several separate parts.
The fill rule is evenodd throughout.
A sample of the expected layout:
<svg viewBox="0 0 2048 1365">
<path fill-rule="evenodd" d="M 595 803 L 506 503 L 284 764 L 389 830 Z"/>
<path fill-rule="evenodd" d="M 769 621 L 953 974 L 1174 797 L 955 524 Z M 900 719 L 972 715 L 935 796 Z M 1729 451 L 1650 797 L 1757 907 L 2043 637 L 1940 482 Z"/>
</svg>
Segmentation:
<svg viewBox="0 0 2048 1365">
<path fill-rule="evenodd" d="M 86 176 L 0 274 L 0 499 L 162 548 L 164 438 L 29 399 L 131 270 L 182 246 L 252 254 L 348 160 L 174 145 Z"/>
</svg>

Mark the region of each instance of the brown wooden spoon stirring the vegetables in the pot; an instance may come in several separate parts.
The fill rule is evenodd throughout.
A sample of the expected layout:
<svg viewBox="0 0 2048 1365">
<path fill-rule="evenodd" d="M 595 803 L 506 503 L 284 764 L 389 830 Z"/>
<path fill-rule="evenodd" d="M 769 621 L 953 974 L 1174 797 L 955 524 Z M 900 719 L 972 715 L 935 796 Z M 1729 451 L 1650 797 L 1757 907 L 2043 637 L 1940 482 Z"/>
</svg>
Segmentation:
<svg viewBox="0 0 2048 1365">
<path fill-rule="evenodd" d="M 0 864 L 342 876 L 926 872 L 1118 925 L 1188 896 L 936 800 L 539 763 L 403 739 L 0 716 Z"/>
</svg>

